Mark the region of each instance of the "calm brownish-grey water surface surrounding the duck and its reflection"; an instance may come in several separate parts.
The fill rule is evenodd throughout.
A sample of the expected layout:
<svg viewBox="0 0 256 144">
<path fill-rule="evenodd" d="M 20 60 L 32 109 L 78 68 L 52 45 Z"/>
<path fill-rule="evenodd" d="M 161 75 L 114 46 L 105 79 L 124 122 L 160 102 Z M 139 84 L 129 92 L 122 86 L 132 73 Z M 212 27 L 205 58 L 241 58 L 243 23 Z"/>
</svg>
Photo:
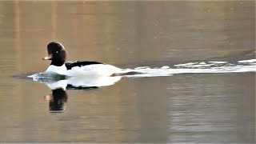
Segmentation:
<svg viewBox="0 0 256 144">
<path fill-rule="evenodd" d="M 254 143 L 254 11 L 243 1 L 0 2 L 0 142 Z M 52 113 L 49 87 L 26 78 L 46 70 L 51 41 L 70 61 L 150 74 L 66 90 Z"/>
</svg>

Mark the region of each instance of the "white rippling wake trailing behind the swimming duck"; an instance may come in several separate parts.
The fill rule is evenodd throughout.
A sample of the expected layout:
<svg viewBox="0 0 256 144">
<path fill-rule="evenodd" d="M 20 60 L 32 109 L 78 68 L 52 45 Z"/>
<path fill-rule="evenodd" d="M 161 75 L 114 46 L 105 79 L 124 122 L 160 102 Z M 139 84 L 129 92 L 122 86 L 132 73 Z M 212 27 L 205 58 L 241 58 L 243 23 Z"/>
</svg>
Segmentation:
<svg viewBox="0 0 256 144">
<path fill-rule="evenodd" d="M 125 72 L 135 72 L 126 75 L 128 78 L 170 76 L 173 74 L 207 74 L 207 73 L 242 73 L 256 72 L 256 59 L 241 60 L 238 62 L 210 61 L 187 62 L 174 66 L 150 68 L 149 66 L 126 69 Z"/>
</svg>

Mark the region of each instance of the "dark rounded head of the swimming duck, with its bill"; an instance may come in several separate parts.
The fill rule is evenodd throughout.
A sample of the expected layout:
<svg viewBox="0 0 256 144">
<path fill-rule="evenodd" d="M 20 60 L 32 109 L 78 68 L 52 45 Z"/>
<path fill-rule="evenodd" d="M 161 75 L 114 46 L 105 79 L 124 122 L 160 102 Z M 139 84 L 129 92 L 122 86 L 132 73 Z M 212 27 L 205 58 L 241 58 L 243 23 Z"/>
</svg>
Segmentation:
<svg viewBox="0 0 256 144">
<path fill-rule="evenodd" d="M 48 56 L 43 60 L 51 60 L 50 65 L 62 66 L 66 62 L 66 50 L 59 42 L 50 42 L 47 45 Z"/>
</svg>

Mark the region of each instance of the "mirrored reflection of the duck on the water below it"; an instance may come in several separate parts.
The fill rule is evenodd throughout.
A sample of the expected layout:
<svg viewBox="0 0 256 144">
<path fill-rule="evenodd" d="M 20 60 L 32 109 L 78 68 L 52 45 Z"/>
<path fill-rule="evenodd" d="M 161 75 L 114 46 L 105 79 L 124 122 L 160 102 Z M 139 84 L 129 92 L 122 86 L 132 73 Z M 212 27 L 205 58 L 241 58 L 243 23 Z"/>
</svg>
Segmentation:
<svg viewBox="0 0 256 144">
<path fill-rule="evenodd" d="M 66 90 L 93 90 L 102 86 L 114 85 L 122 77 L 102 78 L 33 78 L 36 82 L 46 84 L 51 94 L 45 96 L 49 102 L 50 113 L 62 113 L 66 109 L 68 94 Z"/>
</svg>

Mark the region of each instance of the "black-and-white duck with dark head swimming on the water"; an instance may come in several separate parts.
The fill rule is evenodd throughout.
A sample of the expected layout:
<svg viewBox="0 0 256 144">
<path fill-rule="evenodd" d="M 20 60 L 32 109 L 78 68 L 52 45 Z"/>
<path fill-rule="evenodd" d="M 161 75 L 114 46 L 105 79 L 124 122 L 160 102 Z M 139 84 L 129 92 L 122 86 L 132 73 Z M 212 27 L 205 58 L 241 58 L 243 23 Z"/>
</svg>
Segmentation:
<svg viewBox="0 0 256 144">
<path fill-rule="evenodd" d="M 122 69 L 102 62 L 75 61 L 66 62 L 66 49 L 60 42 L 50 42 L 47 45 L 48 55 L 42 60 L 50 60 L 50 66 L 46 69 L 48 73 L 61 74 L 68 77 L 93 76 L 110 77 L 122 75 Z"/>
</svg>

